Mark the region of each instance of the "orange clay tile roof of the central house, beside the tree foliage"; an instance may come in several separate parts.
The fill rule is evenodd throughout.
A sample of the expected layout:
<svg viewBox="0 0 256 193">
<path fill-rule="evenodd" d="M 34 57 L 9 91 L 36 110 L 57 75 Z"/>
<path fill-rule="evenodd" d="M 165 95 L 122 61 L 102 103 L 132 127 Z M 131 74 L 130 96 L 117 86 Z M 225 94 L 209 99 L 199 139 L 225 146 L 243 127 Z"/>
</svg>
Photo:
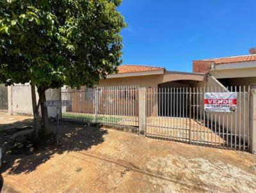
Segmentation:
<svg viewBox="0 0 256 193">
<path fill-rule="evenodd" d="M 157 71 L 157 70 L 165 70 L 165 68 L 155 67 L 155 66 L 143 66 L 143 65 L 118 66 L 118 73 L 148 72 L 148 71 Z"/>
</svg>

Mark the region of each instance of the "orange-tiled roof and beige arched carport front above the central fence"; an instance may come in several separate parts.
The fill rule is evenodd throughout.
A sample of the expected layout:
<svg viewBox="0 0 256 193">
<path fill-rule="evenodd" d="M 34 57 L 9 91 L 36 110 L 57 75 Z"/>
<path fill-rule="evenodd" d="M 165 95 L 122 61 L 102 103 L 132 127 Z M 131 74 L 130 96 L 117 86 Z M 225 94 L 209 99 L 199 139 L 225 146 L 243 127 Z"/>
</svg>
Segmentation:
<svg viewBox="0 0 256 193">
<path fill-rule="evenodd" d="M 118 73 L 102 79 L 98 86 L 134 85 L 146 88 L 189 87 L 205 82 L 204 73 L 171 72 L 163 67 L 122 65 Z"/>
</svg>

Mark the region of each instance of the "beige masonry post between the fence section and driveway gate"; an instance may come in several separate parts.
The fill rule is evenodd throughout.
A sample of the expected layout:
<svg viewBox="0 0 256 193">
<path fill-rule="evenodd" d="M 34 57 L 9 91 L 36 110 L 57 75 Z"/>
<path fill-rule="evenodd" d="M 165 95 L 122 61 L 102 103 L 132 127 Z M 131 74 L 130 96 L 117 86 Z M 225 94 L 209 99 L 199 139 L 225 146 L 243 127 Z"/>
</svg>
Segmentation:
<svg viewBox="0 0 256 193">
<path fill-rule="evenodd" d="M 140 87 L 139 91 L 139 134 L 146 134 L 146 88 Z"/>
</svg>

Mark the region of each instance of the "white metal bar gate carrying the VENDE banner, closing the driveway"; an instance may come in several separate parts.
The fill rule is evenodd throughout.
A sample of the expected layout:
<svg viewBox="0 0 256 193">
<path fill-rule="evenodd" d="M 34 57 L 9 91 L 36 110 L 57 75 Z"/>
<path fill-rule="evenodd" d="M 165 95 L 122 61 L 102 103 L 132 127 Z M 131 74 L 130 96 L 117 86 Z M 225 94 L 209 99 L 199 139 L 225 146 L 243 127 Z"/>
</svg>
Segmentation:
<svg viewBox="0 0 256 193">
<path fill-rule="evenodd" d="M 236 92 L 236 112 L 205 112 L 205 92 Z M 250 87 L 149 88 L 146 136 L 248 150 Z"/>
</svg>

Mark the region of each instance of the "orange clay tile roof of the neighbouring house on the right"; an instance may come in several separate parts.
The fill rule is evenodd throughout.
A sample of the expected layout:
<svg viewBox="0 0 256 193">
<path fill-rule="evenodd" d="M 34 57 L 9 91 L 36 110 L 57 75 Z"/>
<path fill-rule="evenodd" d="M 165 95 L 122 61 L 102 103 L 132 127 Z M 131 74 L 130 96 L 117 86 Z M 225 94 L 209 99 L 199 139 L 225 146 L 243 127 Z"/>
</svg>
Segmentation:
<svg viewBox="0 0 256 193">
<path fill-rule="evenodd" d="M 244 55 L 244 56 L 229 56 L 223 58 L 211 58 L 211 59 L 201 59 L 199 61 L 214 61 L 216 65 L 225 63 L 239 63 L 245 61 L 256 61 L 256 54 Z"/>
</svg>

